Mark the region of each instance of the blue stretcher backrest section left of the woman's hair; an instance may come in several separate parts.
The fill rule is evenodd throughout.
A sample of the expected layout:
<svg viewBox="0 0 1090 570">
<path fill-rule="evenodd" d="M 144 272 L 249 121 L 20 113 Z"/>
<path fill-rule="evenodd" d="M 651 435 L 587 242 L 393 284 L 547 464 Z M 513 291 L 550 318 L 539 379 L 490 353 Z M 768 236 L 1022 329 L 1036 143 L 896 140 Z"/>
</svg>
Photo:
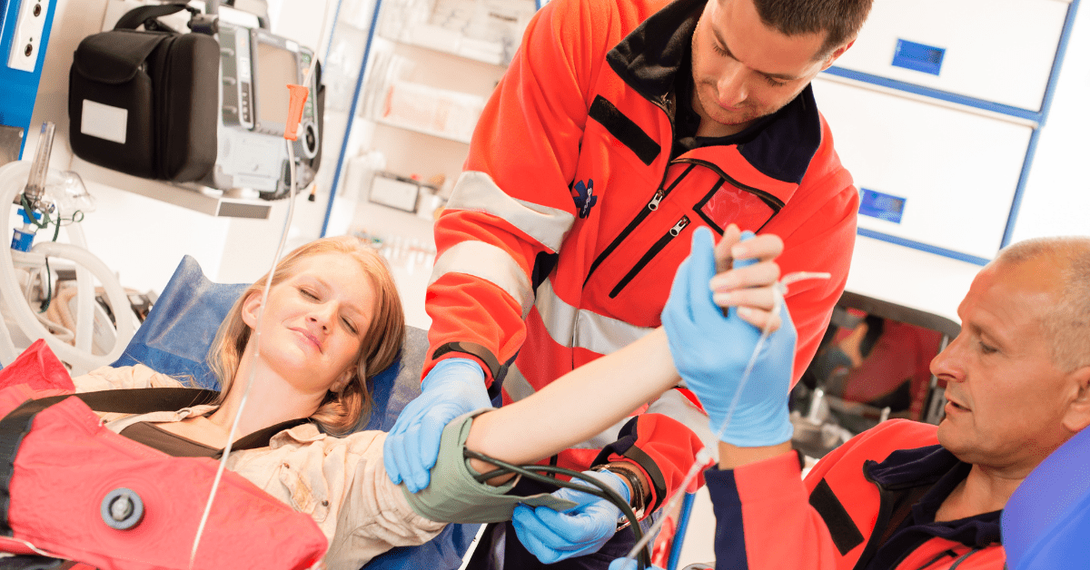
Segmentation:
<svg viewBox="0 0 1090 570">
<path fill-rule="evenodd" d="M 205 359 L 220 323 L 246 287 L 214 283 L 196 259 L 184 256 L 113 366 L 141 363 L 171 376 L 192 376 L 202 388 L 219 389 Z"/>
</svg>

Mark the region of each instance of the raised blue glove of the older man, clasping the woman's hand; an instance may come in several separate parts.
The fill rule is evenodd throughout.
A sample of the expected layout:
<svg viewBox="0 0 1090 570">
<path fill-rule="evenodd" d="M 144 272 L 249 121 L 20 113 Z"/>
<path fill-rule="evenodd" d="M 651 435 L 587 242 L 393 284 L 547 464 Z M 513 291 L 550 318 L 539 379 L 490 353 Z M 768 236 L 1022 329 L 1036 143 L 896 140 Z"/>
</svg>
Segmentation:
<svg viewBox="0 0 1090 570">
<path fill-rule="evenodd" d="M 742 240 L 752 238 L 751 232 Z M 787 307 L 780 307 L 783 325 L 761 348 L 749 380 L 739 387 L 761 331 L 746 323 L 731 307 L 727 317 L 712 301 L 708 281 L 715 276 L 712 232 L 698 228 L 692 252 L 674 277 L 670 296 L 663 310 L 663 327 L 670 354 L 718 433 L 738 396 L 730 424 L 720 439 L 739 447 L 782 444 L 791 438 L 787 411 L 791 368 L 795 360 L 795 326 Z M 749 265 L 740 260 L 735 267 Z"/>
</svg>

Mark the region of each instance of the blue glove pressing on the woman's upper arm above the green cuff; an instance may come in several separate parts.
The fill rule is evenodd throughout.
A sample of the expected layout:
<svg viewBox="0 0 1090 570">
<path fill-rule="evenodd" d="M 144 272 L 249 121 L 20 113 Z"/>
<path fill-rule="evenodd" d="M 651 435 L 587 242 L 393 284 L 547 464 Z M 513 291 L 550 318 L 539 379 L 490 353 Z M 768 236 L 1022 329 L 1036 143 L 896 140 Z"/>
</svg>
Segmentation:
<svg viewBox="0 0 1090 570">
<path fill-rule="evenodd" d="M 492 401 L 481 365 L 470 359 L 439 361 L 421 384 L 423 393 L 409 402 L 383 445 L 383 464 L 395 484 L 411 493 L 431 483 L 428 470 L 439 457 L 439 438 L 451 420 Z"/>
</svg>

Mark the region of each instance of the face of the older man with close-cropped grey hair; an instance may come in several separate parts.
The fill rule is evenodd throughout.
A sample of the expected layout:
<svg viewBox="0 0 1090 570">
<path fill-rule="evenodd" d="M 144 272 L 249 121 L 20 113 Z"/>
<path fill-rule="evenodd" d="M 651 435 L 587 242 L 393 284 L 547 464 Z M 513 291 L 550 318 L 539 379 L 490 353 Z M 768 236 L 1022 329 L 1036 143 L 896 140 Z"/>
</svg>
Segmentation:
<svg viewBox="0 0 1090 570">
<path fill-rule="evenodd" d="M 962 461 L 1025 475 L 1070 433 L 1073 390 L 1052 362 L 1042 318 L 1054 306 L 1057 262 L 993 262 L 958 307 L 961 333 L 931 362 L 946 380 L 938 441 Z"/>
</svg>

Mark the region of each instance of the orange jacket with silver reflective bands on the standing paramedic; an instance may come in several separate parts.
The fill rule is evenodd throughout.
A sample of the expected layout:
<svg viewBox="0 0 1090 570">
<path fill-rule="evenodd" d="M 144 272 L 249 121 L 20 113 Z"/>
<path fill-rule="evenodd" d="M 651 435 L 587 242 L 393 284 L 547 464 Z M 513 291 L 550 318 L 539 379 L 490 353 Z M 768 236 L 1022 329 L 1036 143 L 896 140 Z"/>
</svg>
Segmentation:
<svg viewBox="0 0 1090 570">
<path fill-rule="evenodd" d="M 425 374 L 436 359 L 472 354 L 502 378 L 505 401 L 522 399 L 658 326 L 693 229 L 732 222 L 782 237 L 784 274 L 833 276 L 787 296 L 798 380 L 844 289 L 858 194 L 809 86 L 741 147 L 670 158 L 675 73 L 690 73 L 682 48 L 703 5 L 554 0 L 535 15 L 435 226 Z M 693 401 L 671 390 L 645 413 L 706 435 Z M 559 464 L 585 469 L 618 428 Z M 632 433 L 598 461 L 639 463 L 657 506 L 700 440 L 680 425 Z"/>
</svg>

